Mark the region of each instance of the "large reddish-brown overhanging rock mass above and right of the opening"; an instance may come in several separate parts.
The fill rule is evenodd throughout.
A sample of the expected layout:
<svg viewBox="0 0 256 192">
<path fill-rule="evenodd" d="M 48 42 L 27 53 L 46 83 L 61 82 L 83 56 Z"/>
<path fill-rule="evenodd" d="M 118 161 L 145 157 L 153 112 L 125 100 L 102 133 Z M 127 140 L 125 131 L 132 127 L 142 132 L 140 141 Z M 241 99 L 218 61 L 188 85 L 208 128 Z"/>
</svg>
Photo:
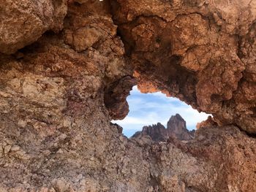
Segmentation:
<svg viewBox="0 0 256 192">
<path fill-rule="evenodd" d="M 256 133 L 255 1 L 112 1 L 138 88 Z"/>
</svg>

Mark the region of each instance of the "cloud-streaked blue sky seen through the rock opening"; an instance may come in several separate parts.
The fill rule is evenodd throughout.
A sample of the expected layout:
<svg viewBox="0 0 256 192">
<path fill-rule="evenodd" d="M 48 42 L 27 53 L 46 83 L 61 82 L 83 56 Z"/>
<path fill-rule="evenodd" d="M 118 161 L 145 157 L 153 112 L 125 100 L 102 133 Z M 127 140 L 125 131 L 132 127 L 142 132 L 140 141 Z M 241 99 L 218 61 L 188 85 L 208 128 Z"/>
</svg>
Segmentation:
<svg viewBox="0 0 256 192">
<path fill-rule="evenodd" d="M 113 120 L 113 123 L 123 127 L 123 133 L 131 137 L 143 126 L 162 123 L 166 126 L 171 115 L 179 113 L 187 122 L 189 130 L 195 129 L 198 122 L 206 120 L 208 115 L 204 112 L 197 112 L 183 101 L 173 97 L 167 97 L 161 92 L 140 93 L 137 86 L 132 88 L 127 97 L 129 114 L 124 120 Z"/>
</svg>

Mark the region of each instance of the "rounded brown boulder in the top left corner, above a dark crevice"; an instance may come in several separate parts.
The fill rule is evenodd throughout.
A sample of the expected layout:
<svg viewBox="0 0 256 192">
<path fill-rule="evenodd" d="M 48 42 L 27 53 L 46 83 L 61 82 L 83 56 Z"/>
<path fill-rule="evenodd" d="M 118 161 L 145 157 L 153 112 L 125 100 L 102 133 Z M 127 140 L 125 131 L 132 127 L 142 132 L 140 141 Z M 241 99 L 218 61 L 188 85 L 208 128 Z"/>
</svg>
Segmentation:
<svg viewBox="0 0 256 192">
<path fill-rule="evenodd" d="M 59 32 L 67 0 L 0 0 L 0 53 L 15 53 L 45 31 Z"/>
</svg>

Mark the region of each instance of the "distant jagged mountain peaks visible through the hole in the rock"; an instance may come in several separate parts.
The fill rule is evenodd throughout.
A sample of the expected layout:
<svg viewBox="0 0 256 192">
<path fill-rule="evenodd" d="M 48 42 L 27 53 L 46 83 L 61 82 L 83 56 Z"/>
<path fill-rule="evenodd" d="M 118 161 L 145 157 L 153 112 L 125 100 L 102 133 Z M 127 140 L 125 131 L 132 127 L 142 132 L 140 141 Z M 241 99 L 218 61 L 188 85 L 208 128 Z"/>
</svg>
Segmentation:
<svg viewBox="0 0 256 192">
<path fill-rule="evenodd" d="M 132 137 L 149 136 L 153 141 L 166 142 L 168 139 L 191 140 L 195 137 L 195 130 L 187 130 L 186 121 L 181 115 L 176 114 L 170 117 L 167 128 L 161 123 L 152 126 L 143 126 L 142 131 L 136 132 Z"/>
</svg>

